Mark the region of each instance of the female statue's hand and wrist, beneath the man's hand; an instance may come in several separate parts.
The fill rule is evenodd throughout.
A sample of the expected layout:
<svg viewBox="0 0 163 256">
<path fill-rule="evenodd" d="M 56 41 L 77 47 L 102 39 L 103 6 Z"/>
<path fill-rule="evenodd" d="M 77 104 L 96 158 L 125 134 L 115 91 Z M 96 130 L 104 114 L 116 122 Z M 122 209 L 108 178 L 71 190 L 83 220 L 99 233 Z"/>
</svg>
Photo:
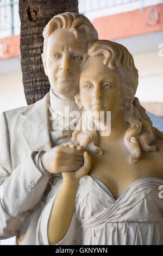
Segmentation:
<svg viewBox="0 0 163 256">
<path fill-rule="evenodd" d="M 62 177 L 64 181 L 76 181 L 79 182 L 80 178 L 87 175 L 91 169 L 91 157 L 85 151 L 84 154 L 84 164 L 78 170 L 71 172 L 62 172 Z"/>
</svg>

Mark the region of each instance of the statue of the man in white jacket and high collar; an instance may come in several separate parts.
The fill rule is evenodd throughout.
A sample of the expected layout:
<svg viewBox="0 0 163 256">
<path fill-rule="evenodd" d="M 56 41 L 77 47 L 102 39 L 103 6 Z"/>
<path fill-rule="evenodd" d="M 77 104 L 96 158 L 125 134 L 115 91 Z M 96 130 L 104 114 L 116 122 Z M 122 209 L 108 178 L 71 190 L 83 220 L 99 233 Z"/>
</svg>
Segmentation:
<svg viewBox="0 0 163 256">
<path fill-rule="evenodd" d="M 83 165 L 82 149 L 60 146 L 70 140 L 72 130 L 55 124 L 66 119 L 65 107 L 80 112 L 74 101 L 80 65 L 87 46 L 98 39 L 97 31 L 83 15 L 64 13 L 49 21 L 43 37 L 51 91 L 32 105 L 3 112 L 0 119 L 0 240 L 16 236 L 16 245 L 36 244 L 37 222 L 52 181 Z"/>
</svg>

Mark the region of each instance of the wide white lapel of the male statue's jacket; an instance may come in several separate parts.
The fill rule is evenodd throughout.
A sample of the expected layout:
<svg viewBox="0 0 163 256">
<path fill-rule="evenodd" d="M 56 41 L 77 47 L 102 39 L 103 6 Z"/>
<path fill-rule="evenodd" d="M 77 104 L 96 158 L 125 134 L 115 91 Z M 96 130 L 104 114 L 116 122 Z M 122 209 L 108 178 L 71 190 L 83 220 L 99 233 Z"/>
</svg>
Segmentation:
<svg viewBox="0 0 163 256">
<path fill-rule="evenodd" d="M 32 151 L 52 148 L 48 130 L 49 93 L 21 113 L 21 133 Z"/>
</svg>

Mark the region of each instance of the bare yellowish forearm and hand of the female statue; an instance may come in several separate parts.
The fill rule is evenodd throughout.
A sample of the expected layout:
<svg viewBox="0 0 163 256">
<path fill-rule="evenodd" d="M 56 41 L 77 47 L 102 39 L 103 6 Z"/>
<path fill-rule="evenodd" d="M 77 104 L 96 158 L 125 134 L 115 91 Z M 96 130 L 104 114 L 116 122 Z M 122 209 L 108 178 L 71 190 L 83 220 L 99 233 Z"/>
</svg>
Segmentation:
<svg viewBox="0 0 163 256">
<path fill-rule="evenodd" d="M 80 178 L 91 169 L 91 157 L 84 153 L 84 165 L 76 171 L 62 173 L 63 181 L 55 198 L 48 224 L 48 240 L 51 245 L 66 235 L 74 213 L 74 203 Z"/>
</svg>

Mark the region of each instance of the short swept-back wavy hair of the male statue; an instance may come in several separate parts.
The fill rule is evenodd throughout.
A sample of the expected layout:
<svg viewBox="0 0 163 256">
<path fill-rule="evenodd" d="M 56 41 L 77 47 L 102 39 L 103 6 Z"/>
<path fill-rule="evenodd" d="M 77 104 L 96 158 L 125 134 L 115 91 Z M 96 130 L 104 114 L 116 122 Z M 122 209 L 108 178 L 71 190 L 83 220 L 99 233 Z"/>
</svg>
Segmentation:
<svg viewBox="0 0 163 256">
<path fill-rule="evenodd" d="M 58 28 L 73 32 L 76 38 L 78 38 L 79 33 L 84 32 L 85 40 L 87 40 L 89 44 L 98 39 L 96 29 L 93 27 L 89 19 L 87 19 L 84 15 L 68 12 L 58 14 L 55 15 L 43 29 L 43 53 L 46 53 L 48 36 Z"/>
</svg>

